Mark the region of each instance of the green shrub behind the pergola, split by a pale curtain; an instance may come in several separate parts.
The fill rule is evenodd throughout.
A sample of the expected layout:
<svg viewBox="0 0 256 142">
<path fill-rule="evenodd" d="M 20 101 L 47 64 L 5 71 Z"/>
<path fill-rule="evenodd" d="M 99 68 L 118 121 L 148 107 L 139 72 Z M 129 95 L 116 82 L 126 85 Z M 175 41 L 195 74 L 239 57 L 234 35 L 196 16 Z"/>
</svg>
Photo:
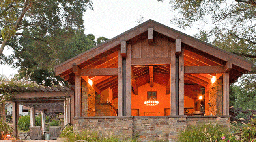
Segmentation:
<svg viewBox="0 0 256 142">
<path fill-rule="evenodd" d="M 30 127 L 30 116 L 25 115 L 21 116 L 18 121 L 18 129 L 22 131 L 28 131 Z M 41 126 L 41 118 L 36 117 L 35 118 L 35 126 Z"/>
</svg>

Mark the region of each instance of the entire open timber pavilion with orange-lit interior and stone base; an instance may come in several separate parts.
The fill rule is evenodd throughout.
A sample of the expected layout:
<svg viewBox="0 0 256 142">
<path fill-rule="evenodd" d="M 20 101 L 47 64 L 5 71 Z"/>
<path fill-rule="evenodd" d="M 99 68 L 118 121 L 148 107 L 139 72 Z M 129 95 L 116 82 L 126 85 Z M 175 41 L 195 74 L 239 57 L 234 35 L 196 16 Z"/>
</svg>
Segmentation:
<svg viewBox="0 0 256 142">
<path fill-rule="evenodd" d="M 54 70 L 75 87 L 75 129 L 171 141 L 187 125 L 229 125 L 229 86 L 251 66 L 148 20 Z"/>
</svg>

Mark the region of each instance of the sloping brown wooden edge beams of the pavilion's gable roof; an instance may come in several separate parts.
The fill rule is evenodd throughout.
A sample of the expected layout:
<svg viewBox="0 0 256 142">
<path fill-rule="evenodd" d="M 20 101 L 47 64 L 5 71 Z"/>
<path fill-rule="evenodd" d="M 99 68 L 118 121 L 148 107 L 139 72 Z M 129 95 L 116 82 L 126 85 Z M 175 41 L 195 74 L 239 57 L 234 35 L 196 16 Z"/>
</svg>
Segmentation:
<svg viewBox="0 0 256 142">
<path fill-rule="evenodd" d="M 187 35 L 185 33 L 182 33 L 180 31 L 177 31 L 173 28 L 170 28 L 168 26 L 165 26 L 163 24 L 160 24 L 150 19 L 128 31 L 125 31 L 124 33 L 121 33 L 120 35 L 102 44 L 99 44 L 98 46 L 95 46 L 90 50 L 87 50 L 84 53 L 81 53 L 61 63 L 60 65 L 55 66 L 54 71 L 56 75 L 60 75 L 63 77 L 72 72 L 74 63 L 79 66 L 85 62 L 90 61 L 90 59 L 93 59 L 93 58 L 94 60 L 101 59 L 102 56 L 99 56 L 100 54 L 108 54 L 108 53 L 117 51 L 117 48 L 118 48 L 117 46 L 120 46 L 121 41 L 128 41 L 129 39 L 132 39 L 133 37 L 148 31 L 148 28 L 153 28 L 154 31 L 161 33 L 167 37 L 170 37 L 172 39 L 181 39 L 181 42 L 183 42 L 184 44 L 192 46 L 197 50 L 200 50 L 204 53 L 217 57 L 226 62 L 232 62 L 232 64 L 240 68 L 243 68 L 244 70 L 247 70 L 247 71 L 251 70 L 252 63 L 250 61 L 247 61 L 242 57 L 234 55 L 230 52 L 226 52 L 211 44 L 208 44 L 204 41 L 191 37 L 190 35 Z"/>
</svg>

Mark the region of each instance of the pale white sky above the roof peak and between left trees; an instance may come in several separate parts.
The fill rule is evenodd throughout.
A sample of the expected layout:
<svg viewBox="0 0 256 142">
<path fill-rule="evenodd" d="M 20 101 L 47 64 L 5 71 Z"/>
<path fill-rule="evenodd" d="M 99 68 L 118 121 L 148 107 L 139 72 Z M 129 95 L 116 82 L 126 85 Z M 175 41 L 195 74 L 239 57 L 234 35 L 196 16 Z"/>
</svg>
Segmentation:
<svg viewBox="0 0 256 142">
<path fill-rule="evenodd" d="M 143 22 L 152 19 L 156 22 L 194 35 L 195 29 L 181 30 L 170 23 L 170 19 L 176 13 L 171 12 L 168 0 L 157 2 L 157 0 L 93 0 L 93 10 L 88 9 L 84 13 L 84 33 L 93 34 L 98 37 L 111 39 L 138 24 L 138 19 L 144 17 Z M 10 55 L 11 50 L 4 49 L 4 55 Z M 0 74 L 9 77 L 17 74 L 18 69 L 11 66 L 0 65 Z"/>
</svg>

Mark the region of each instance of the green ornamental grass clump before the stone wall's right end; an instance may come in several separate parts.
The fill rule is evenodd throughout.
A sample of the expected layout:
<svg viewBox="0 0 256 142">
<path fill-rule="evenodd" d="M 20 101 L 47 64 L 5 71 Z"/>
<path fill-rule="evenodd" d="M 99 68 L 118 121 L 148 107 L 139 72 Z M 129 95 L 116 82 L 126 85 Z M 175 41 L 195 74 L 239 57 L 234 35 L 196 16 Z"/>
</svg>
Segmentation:
<svg viewBox="0 0 256 142">
<path fill-rule="evenodd" d="M 225 140 L 234 142 L 234 136 L 227 127 L 219 124 L 202 124 L 187 127 L 180 133 L 178 142 L 219 142 L 222 136 L 225 136 Z"/>
</svg>

